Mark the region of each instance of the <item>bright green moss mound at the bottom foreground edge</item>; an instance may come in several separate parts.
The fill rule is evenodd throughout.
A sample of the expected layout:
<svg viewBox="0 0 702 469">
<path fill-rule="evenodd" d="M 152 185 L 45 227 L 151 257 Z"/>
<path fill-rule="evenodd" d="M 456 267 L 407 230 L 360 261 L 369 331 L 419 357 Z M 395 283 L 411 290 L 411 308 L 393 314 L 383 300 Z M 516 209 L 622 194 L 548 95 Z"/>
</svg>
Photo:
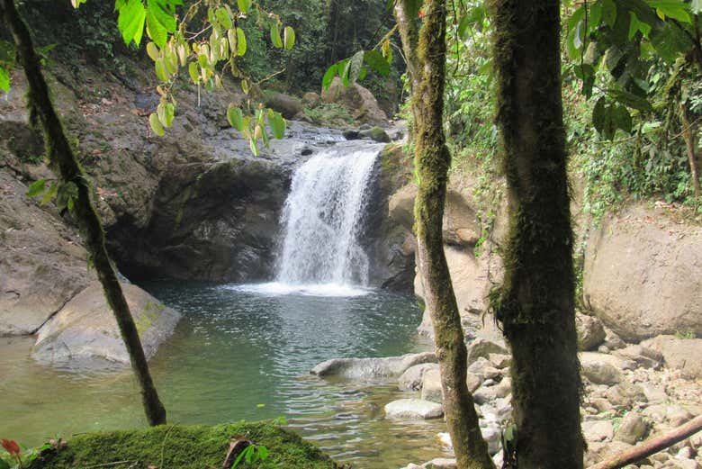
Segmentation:
<svg viewBox="0 0 702 469">
<path fill-rule="evenodd" d="M 215 426 L 161 425 L 136 430 L 90 433 L 68 441 L 67 447 L 32 462 L 30 469 L 97 467 L 112 469 L 201 469 L 221 467 L 231 437 L 243 436 L 268 448 L 269 457 L 261 464 L 238 467 L 284 469 L 341 469 L 316 446 L 302 437 L 268 422 L 229 423 Z"/>
</svg>

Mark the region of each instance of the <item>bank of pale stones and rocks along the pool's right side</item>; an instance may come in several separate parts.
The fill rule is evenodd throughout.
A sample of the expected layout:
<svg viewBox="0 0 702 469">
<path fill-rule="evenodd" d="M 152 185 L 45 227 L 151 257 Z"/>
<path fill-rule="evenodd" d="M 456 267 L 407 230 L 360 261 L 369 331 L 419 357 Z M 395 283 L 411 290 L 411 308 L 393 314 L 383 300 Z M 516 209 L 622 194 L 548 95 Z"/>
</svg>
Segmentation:
<svg viewBox="0 0 702 469">
<path fill-rule="evenodd" d="M 581 321 L 582 324 L 583 321 Z M 579 330 L 585 338 L 602 328 L 597 320 Z M 498 467 L 502 461 L 500 438 L 511 425 L 511 356 L 504 342 L 480 337 L 476 331 L 468 348 L 468 388 L 473 392 L 483 437 Z M 597 334 L 597 332 L 595 332 Z M 693 356 L 702 356 L 702 339 L 661 336 L 641 345 L 626 344 L 612 332 L 595 340 L 594 347 L 607 352 L 581 352 L 585 383 L 581 415 L 588 443 L 586 466 L 630 448 L 648 437 L 662 435 L 702 414 L 700 370 L 687 366 Z M 695 361 L 695 360 L 692 360 Z M 698 360 L 695 361 L 698 363 Z M 412 365 L 414 364 L 414 365 Z M 366 359 L 333 359 L 318 365 L 313 374 L 338 375 L 354 380 L 395 381 L 407 397 L 387 402 L 386 419 L 440 419 L 442 393 L 436 356 L 431 353 Z M 455 467 L 451 438 L 436 436 L 445 458 L 419 467 Z M 702 436 L 690 437 L 650 456 L 632 467 L 641 469 L 698 469 L 702 464 Z"/>
</svg>

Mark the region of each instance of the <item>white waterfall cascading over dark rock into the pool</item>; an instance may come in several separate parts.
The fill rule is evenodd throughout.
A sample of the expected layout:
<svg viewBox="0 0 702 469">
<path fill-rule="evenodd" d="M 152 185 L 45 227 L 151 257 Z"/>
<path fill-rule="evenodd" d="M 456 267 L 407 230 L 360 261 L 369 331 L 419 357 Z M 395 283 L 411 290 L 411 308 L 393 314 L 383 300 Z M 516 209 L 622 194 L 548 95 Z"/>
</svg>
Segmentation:
<svg viewBox="0 0 702 469">
<path fill-rule="evenodd" d="M 295 171 L 283 211 L 280 284 L 368 284 L 359 230 L 379 151 L 328 149 Z"/>
</svg>

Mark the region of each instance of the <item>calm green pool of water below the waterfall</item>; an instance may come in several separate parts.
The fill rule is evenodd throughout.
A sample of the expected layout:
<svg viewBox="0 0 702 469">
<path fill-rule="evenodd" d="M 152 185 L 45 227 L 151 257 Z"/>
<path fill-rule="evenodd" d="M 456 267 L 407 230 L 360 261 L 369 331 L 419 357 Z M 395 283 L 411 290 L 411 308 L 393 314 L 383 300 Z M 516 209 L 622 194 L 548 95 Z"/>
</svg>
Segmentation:
<svg viewBox="0 0 702 469">
<path fill-rule="evenodd" d="M 413 298 L 242 291 L 232 285 L 143 285 L 183 313 L 151 361 L 171 423 L 284 416 L 289 428 L 361 469 L 401 467 L 442 454 L 442 420 L 383 419 L 411 393 L 396 383 L 326 381 L 312 366 L 336 356 L 394 356 L 428 349 L 415 332 Z M 329 292 L 324 292 L 328 294 Z M 333 292 L 332 292 L 333 293 Z M 356 292 L 358 293 L 358 292 Z M 0 338 L 0 437 L 27 445 L 145 424 L 129 370 L 58 370 L 29 357 L 32 338 Z"/>
</svg>

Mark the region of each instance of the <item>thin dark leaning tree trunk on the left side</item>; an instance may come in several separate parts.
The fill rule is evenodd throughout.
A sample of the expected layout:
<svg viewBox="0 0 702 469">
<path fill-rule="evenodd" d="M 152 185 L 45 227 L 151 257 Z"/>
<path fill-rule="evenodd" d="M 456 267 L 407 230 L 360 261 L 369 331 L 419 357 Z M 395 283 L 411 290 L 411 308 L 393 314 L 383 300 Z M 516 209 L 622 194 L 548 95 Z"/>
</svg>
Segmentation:
<svg viewBox="0 0 702 469">
<path fill-rule="evenodd" d="M 103 292 L 114 318 L 120 328 L 121 337 L 130 355 L 131 367 L 141 387 L 141 396 L 149 425 L 166 423 L 166 409 L 161 401 L 141 347 L 139 332 L 131 317 L 129 305 L 124 299 L 121 286 L 114 273 L 110 257 L 104 245 L 102 223 L 90 202 L 88 185 L 76 156 L 66 138 L 53 104 L 49 98 L 49 87 L 41 74 L 40 62 L 31 43 L 30 32 L 14 7 L 14 0 L 0 0 L 0 15 L 12 32 L 17 45 L 20 62 L 29 83 L 29 105 L 32 116 L 38 118 L 44 130 L 44 140 L 49 153 L 49 164 L 58 173 L 63 183 L 73 183 L 78 189 L 75 202 L 76 218 L 85 239 L 85 248 L 93 263 L 97 277 L 103 284 Z"/>
</svg>

